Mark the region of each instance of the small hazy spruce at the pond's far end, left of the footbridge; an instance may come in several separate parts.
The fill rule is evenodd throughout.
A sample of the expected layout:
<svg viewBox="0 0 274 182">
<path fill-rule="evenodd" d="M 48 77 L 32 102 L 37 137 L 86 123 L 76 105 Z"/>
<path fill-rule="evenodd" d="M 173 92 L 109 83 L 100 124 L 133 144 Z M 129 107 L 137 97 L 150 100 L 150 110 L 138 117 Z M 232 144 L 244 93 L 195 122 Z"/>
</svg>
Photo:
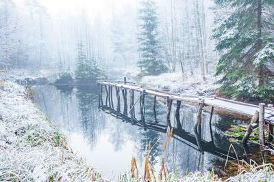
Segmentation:
<svg viewBox="0 0 274 182">
<path fill-rule="evenodd" d="M 78 57 L 77 57 L 77 68 L 75 70 L 75 78 L 77 80 L 97 80 L 97 77 L 101 75 L 97 63 L 93 59 L 88 59 L 86 51 L 84 50 L 84 44 L 79 41 L 78 44 Z"/>
</svg>

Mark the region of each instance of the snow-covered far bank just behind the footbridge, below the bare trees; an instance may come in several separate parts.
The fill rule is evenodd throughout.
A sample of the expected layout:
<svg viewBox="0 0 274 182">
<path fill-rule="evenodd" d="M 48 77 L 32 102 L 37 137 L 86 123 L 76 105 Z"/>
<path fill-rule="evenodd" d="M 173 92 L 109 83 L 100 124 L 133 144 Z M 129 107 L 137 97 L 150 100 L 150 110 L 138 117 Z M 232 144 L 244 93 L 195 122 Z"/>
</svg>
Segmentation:
<svg viewBox="0 0 274 182">
<path fill-rule="evenodd" d="M 201 76 L 182 76 L 181 72 L 164 73 L 159 76 L 142 76 L 140 69 L 136 65 L 127 67 L 112 67 L 108 70 L 109 78 L 121 80 L 123 76 L 129 80 L 136 80 L 138 85 L 149 89 L 159 89 L 171 91 L 173 93 L 182 93 L 185 95 L 212 96 L 220 85 L 214 85 L 218 78 L 212 74 L 206 75 L 206 81 Z"/>
</svg>

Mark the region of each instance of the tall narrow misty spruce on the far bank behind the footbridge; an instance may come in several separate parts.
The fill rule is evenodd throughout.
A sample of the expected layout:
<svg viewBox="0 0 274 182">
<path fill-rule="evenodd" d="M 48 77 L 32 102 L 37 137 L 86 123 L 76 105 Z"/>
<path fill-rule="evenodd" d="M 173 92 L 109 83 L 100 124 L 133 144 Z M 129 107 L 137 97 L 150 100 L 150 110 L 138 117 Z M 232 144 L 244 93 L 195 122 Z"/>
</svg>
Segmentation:
<svg viewBox="0 0 274 182">
<path fill-rule="evenodd" d="M 158 18 L 155 2 L 143 0 L 140 3 L 139 19 L 141 20 L 138 37 L 139 50 L 141 53 L 138 66 L 143 74 L 158 75 L 167 72 L 168 68 L 162 61 L 162 47 L 158 36 Z"/>
</svg>

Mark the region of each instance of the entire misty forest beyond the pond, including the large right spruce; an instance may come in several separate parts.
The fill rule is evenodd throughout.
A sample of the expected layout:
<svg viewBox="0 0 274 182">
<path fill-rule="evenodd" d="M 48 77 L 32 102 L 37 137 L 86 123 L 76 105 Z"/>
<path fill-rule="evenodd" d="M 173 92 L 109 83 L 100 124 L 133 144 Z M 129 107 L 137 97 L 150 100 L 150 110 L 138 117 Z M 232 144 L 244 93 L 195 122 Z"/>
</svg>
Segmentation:
<svg viewBox="0 0 274 182">
<path fill-rule="evenodd" d="M 234 99 L 273 101 L 272 1 L 112 1 L 92 15 L 84 3 L 52 14 L 42 1 L 1 1 L 2 70 L 215 77 Z"/>
</svg>

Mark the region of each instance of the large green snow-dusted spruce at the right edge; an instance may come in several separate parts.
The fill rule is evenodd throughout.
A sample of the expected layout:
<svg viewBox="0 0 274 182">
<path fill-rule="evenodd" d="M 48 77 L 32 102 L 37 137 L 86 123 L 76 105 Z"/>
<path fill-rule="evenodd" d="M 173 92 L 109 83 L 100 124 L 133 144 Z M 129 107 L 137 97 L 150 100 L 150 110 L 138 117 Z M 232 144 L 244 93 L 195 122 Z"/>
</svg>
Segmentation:
<svg viewBox="0 0 274 182">
<path fill-rule="evenodd" d="M 274 1 L 215 0 L 215 3 L 231 11 L 212 36 L 218 41 L 216 50 L 223 53 L 216 67 L 216 75 L 223 74 L 217 82 L 223 85 L 220 91 L 234 97 L 273 100 L 274 28 L 269 21 L 269 10 Z"/>
</svg>

